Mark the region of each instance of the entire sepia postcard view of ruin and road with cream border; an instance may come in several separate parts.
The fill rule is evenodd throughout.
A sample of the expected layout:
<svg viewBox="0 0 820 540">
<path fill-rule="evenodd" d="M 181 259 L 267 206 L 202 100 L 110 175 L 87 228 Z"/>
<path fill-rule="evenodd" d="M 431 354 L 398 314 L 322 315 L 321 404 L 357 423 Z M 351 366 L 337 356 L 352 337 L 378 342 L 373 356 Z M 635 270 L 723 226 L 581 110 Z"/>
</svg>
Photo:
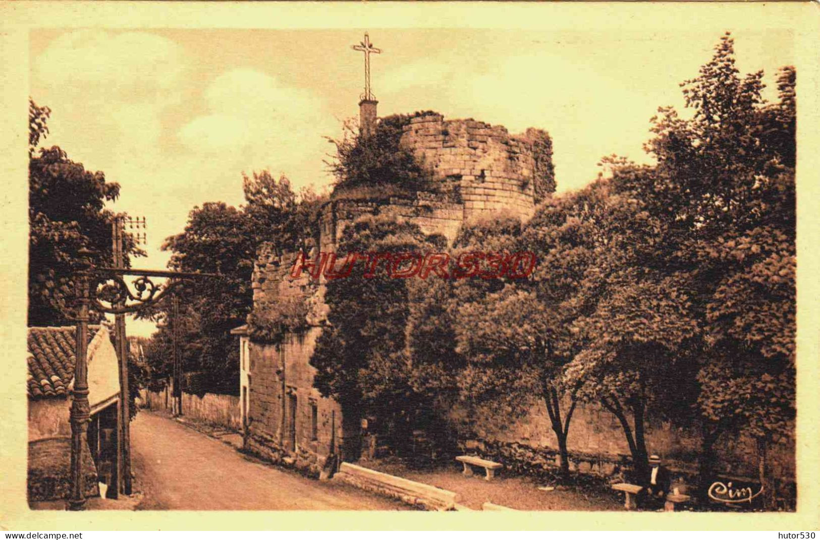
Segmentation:
<svg viewBox="0 0 820 540">
<path fill-rule="evenodd" d="M 804 79 L 812 25 L 781 16 L 809 2 L 602 2 L 634 17 L 549 28 L 563 6 L 357 22 L 341 2 L 301 25 L 274 4 L 182 23 L 91 3 L 20 42 L 4 324 L 25 324 L 5 331 L 25 362 L 3 395 L 26 411 L 30 528 L 572 511 L 680 529 L 661 518 L 817 502 L 795 176 L 816 184 L 798 118 L 817 65 Z M 448 6 L 522 11 L 430 22 Z"/>
</svg>

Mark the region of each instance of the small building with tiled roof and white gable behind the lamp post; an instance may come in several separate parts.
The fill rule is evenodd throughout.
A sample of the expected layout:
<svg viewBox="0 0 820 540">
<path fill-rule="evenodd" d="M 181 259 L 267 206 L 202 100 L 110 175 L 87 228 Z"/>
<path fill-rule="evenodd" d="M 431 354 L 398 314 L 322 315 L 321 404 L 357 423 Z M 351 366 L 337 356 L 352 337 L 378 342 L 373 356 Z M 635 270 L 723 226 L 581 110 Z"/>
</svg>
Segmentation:
<svg viewBox="0 0 820 540">
<path fill-rule="evenodd" d="M 74 388 L 74 326 L 32 327 L 28 332 L 30 501 L 63 499 L 70 488 L 71 392 Z M 120 373 L 111 334 L 89 326 L 89 447 L 83 467 L 87 495 L 99 494 L 98 481 L 116 482 Z"/>
</svg>

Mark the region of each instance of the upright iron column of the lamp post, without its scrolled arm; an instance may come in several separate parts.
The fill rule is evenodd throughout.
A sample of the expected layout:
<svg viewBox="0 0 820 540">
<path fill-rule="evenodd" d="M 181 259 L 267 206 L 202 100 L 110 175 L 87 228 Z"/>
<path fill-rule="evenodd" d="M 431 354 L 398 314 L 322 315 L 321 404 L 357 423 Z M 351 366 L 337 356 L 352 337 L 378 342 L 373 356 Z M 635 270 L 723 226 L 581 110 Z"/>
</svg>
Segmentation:
<svg viewBox="0 0 820 540">
<path fill-rule="evenodd" d="M 85 479 L 83 451 L 88 447 L 89 373 L 86 353 L 89 347 L 89 250 L 80 249 L 80 270 L 76 273 L 77 333 L 75 336 L 74 392 L 71 400 L 71 496 L 69 510 L 83 510 L 85 506 Z"/>
</svg>

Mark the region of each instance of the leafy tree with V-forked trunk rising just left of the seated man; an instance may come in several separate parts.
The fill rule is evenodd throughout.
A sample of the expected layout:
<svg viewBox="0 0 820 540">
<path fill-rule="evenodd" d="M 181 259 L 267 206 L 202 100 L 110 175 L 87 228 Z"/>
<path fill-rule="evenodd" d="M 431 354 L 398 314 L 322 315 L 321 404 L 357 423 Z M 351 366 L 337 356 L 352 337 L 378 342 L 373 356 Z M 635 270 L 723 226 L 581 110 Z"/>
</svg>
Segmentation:
<svg viewBox="0 0 820 540">
<path fill-rule="evenodd" d="M 697 332 L 677 280 L 649 280 L 642 270 L 608 279 L 606 296 L 578 322 L 587 346 L 565 374 L 567 383 L 580 385 L 582 397 L 615 415 L 639 479 L 648 471 L 645 420 L 653 407 L 672 416 L 668 406 L 694 379 L 687 378 L 686 352 Z"/>
</svg>

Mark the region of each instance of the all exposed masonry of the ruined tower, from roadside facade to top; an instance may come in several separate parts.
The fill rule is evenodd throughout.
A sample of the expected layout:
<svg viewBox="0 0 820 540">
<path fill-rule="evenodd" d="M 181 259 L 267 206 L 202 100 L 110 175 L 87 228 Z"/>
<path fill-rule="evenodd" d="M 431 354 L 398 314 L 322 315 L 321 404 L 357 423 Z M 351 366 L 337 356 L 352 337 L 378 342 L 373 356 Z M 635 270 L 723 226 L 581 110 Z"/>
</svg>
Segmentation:
<svg viewBox="0 0 820 540">
<path fill-rule="evenodd" d="M 359 103 L 362 136 L 376 133 L 375 98 Z M 413 117 L 399 139 L 426 170 L 426 188 L 337 188 L 314 224 L 307 256 L 336 252 L 344 228 L 361 216 L 408 220 L 426 234 L 453 242 L 465 220 L 503 211 L 526 220 L 554 189 L 549 136 L 539 130 L 510 135 L 503 126 L 476 120 L 444 120 L 435 113 Z M 546 172 L 545 172 L 546 171 Z M 245 447 L 312 474 L 336 459 L 358 456 L 358 417 L 313 387 L 310 359 L 328 315 L 326 284 L 289 275 L 296 253 L 263 244 L 253 270 L 253 314 L 248 319 L 248 429 Z M 254 327 L 264 320 L 298 317 L 305 324 L 271 342 Z M 355 415 L 353 415 L 355 416 Z M 340 456 L 340 458 L 339 458 Z M 328 465 L 330 464 L 330 465 Z"/>
</svg>

